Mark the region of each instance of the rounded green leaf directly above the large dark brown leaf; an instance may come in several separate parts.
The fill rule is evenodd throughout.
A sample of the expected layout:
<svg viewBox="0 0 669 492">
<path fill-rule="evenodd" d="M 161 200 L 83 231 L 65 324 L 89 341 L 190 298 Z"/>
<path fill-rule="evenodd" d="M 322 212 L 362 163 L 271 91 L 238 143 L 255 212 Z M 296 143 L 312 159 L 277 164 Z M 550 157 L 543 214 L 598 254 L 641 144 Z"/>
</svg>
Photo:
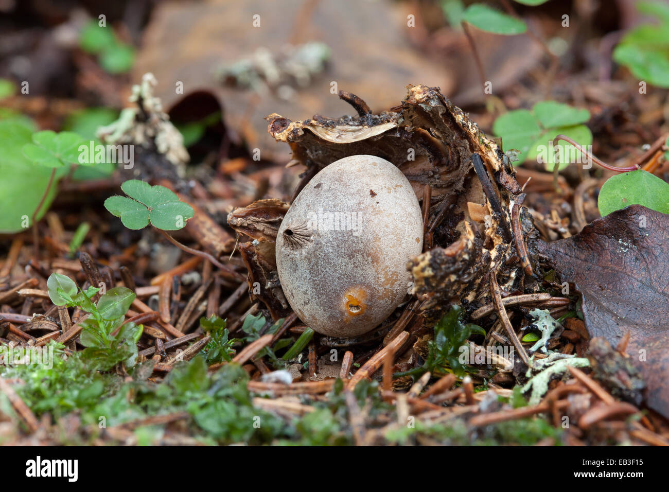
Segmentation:
<svg viewBox="0 0 669 492">
<path fill-rule="evenodd" d="M 602 217 L 635 204 L 669 214 L 669 183 L 642 169 L 620 173 L 607 179 L 597 199 Z"/>
</svg>

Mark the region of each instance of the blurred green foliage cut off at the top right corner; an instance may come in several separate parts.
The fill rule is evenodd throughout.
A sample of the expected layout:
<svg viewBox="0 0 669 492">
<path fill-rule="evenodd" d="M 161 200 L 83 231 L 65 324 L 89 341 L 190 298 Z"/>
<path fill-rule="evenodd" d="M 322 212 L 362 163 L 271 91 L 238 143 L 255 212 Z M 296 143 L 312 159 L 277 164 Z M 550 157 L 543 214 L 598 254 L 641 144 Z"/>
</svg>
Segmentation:
<svg viewBox="0 0 669 492">
<path fill-rule="evenodd" d="M 636 7 L 658 22 L 642 24 L 628 32 L 613 50 L 613 60 L 629 68 L 640 81 L 669 88 L 669 5 L 664 1 L 641 1 Z"/>
</svg>

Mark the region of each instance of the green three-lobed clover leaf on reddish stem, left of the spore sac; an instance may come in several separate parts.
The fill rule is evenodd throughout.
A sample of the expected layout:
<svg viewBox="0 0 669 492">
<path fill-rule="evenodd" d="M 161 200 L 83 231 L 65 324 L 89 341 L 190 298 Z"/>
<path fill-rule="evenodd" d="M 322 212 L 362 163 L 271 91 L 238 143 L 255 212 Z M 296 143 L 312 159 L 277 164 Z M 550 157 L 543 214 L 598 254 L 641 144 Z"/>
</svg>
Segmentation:
<svg viewBox="0 0 669 492">
<path fill-rule="evenodd" d="M 151 186 L 139 179 L 130 179 L 121 185 L 128 197 L 112 196 L 104 201 L 104 207 L 128 229 L 145 228 L 149 222 L 161 230 L 179 230 L 195 212 L 188 203 L 164 186 Z"/>
</svg>

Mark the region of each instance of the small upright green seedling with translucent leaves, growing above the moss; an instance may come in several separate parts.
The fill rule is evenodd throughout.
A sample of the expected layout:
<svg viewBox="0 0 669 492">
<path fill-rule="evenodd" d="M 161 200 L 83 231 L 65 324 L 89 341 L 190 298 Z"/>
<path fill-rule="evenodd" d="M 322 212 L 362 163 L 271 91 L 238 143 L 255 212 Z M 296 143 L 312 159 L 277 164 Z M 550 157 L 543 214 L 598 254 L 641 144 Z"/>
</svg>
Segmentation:
<svg viewBox="0 0 669 492">
<path fill-rule="evenodd" d="M 86 291 L 78 289 L 68 276 L 52 273 L 47 279 L 49 297 L 57 306 L 78 307 L 90 313 L 80 325 L 84 327 L 80 335 L 86 347 L 82 357 L 98 368 L 110 370 L 123 363 L 132 367 L 137 361 L 137 341 L 142 335 L 142 325 L 124 323 L 124 316 L 130 309 L 136 295 L 126 287 L 114 287 L 100 297 L 97 303 L 92 298 L 98 293 L 91 286 Z"/>
</svg>

